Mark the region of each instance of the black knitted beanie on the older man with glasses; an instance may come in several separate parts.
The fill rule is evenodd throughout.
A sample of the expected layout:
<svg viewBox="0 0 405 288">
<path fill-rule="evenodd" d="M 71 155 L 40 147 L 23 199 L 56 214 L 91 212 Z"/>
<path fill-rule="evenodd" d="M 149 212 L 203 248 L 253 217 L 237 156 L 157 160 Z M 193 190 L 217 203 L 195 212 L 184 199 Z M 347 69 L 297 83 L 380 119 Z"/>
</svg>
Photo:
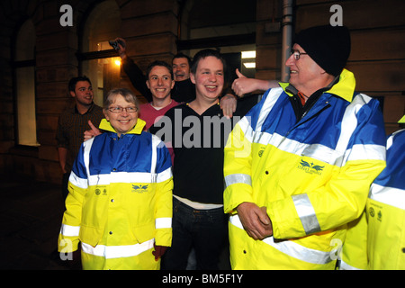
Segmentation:
<svg viewBox="0 0 405 288">
<path fill-rule="evenodd" d="M 350 33 L 345 26 L 316 26 L 298 33 L 295 43 L 327 73 L 338 76 L 350 55 Z"/>
</svg>

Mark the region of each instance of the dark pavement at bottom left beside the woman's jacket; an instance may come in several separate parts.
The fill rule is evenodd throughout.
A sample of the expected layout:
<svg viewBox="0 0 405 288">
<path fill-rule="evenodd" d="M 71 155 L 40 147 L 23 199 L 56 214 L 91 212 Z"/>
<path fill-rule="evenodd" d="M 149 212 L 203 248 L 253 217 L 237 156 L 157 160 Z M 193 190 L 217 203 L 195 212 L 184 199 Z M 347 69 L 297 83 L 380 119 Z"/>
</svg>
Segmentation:
<svg viewBox="0 0 405 288">
<path fill-rule="evenodd" d="M 57 252 L 64 204 L 60 185 L 0 175 L 0 269 L 80 270 Z"/>
</svg>

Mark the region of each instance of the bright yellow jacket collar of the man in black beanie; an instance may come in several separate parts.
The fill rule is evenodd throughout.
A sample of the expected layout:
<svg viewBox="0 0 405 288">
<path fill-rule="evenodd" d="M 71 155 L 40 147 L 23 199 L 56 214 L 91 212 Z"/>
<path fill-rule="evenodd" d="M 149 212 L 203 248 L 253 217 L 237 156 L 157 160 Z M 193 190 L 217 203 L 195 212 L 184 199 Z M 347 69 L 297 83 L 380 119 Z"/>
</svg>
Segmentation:
<svg viewBox="0 0 405 288">
<path fill-rule="evenodd" d="M 293 93 L 291 92 L 291 86 L 293 85 L 290 86 L 289 83 L 280 83 L 280 86 L 284 89 L 284 92 L 286 94 L 288 94 L 289 96 L 293 96 Z M 352 102 L 355 88 L 355 76 L 349 70 L 343 69 L 342 73 L 340 73 L 338 83 L 333 85 L 329 90 L 326 91 L 326 93 L 335 94 L 345 99 L 347 102 Z"/>
</svg>

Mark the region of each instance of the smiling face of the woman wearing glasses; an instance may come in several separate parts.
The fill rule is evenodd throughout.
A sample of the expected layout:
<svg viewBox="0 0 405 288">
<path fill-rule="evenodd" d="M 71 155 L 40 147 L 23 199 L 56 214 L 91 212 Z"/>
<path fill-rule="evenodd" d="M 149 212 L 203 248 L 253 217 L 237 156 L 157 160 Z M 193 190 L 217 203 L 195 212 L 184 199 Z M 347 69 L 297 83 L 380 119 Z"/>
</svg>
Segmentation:
<svg viewBox="0 0 405 288">
<path fill-rule="evenodd" d="M 121 94 L 112 95 L 112 100 L 108 109 L 111 108 L 128 108 L 137 107 L 135 103 L 127 102 Z M 126 134 L 130 131 L 138 121 L 138 111 L 137 112 L 127 112 L 123 110 L 122 112 L 111 112 L 108 109 L 104 109 L 104 116 L 107 121 L 110 121 L 113 129 L 117 132 L 118 136 L 121 134 Z"/>
</svg>

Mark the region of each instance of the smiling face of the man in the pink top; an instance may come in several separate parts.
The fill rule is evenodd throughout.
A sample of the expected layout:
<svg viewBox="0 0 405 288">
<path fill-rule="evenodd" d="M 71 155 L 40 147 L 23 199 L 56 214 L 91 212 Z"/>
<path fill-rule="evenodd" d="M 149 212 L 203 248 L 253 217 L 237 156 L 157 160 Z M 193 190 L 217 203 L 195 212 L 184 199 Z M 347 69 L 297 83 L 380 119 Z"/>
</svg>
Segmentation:
<svg viewBox="0 0 405 288">
<path fill-rule="evenodd" d="M 147 85 L 154 97 L 164 99 L 170 95 L 175 81 L 166 67 L 155 66 L 150 70 Z"/>
</svg>

